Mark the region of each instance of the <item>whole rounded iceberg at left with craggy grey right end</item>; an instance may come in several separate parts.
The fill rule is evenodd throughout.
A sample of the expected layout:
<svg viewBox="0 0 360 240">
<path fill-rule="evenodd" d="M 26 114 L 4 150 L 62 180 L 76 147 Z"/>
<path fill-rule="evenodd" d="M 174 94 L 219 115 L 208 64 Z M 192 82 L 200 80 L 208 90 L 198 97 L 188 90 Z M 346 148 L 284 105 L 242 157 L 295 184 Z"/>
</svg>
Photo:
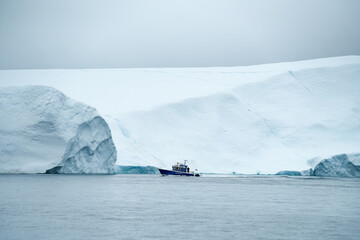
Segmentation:
<svg viewBox="0 0 360 240">
<path fill-rule="evenodd" d="M 59 164 L 59 173 L 114 172 L 111 132 L 95 108 L 52 87 L 17 86 L 0 88 L 0 109 L 0 173 Z"/>
</svg>

